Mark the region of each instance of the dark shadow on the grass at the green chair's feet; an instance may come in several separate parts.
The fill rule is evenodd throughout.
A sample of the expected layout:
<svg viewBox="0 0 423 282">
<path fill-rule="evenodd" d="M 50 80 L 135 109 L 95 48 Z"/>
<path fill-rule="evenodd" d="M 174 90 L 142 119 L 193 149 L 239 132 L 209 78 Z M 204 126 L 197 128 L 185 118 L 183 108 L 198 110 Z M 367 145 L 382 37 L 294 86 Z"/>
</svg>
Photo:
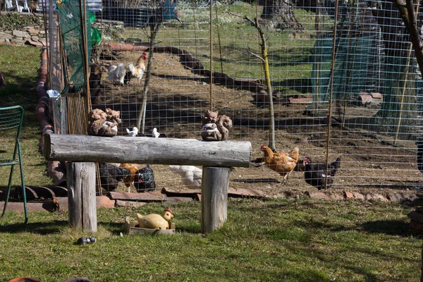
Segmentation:
<svg viewBox="0 0 423 282">
<path fill-rule="evenodd" d="M 0 219 L 1 222 L 1 219 Z M 68 221 L 52 221 L 48 223 L 14 223 L 0 226 L 0 233 L 31 232 L 41 235 L 60 233 L 63 227 L 69 226 Z"/>
</svg>

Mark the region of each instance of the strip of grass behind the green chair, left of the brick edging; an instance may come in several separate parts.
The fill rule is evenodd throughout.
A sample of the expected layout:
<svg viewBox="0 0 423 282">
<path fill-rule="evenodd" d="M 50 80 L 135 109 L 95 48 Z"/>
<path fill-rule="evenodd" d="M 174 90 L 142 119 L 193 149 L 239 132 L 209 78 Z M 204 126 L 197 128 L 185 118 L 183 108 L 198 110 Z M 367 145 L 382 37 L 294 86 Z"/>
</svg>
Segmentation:
<svg viewBox="0 0 423 282">
<path fill-rule="evenodd" d="M 0 87 L 0 106 L 23 106 L 25 110 L 21 145 L 26 185 L 52 185 L 44 171 L 46 161 L 39 152 L 41 131 L 35 118 L 35 105 L 38 102 L 37 86 L 40 66 L 40 49 L 36 47 L 17 47 L 0 45 L 0 72 L 3 73 L 6 87 Z M 11 147 L 14 144 L 2 142 L 1 146 Z M 0 167 L 0 188 L 7 187 L 10 166 Z M 13 185 L 20 185 L 19 169 L 13 174 Z"/>
</svg>

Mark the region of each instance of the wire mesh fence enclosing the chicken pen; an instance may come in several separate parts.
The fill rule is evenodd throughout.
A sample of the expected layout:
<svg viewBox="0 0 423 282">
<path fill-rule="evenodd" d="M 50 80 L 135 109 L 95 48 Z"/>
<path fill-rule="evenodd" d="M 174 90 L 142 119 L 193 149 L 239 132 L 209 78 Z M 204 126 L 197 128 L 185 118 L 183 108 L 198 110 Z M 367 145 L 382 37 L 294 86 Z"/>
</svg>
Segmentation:
<svg viewBox="0 0 423 282">
<path fill-rule="evenodd" d="M 260 147 L 269 143 L 270 116 L 262 47 L 252 25 L 257 19 L 266 37 L 274 90 L 276 149 L 298 147 L 298 164 L 302 157 L 313 162 L 341 157 L 333 190 L 404 190 L 421 184 L 415 142 L 420 136 L 423 80 L 410 36 L 391 1 L 340 1 L 338 13 L 336 2 L 309 0 L 121 0 L 103 1 L 95 8 L 93 3 L 87 1 L 88 10 L 96 16 L 90 25 L 99 33 L 91 30 L 90 35 L 101 41 L 90 41 L 91 106 L 120 111 L 118 134 L 137 126 L 144 109 L 146 75 L 140 80 L 125 78 L 116 85 L 109 79 L 109 70 L 119 63 L 126 69 L 130 63 L 135 65 L 143 50 L 148 55 L 142 46 L 148 47 L 152 23 L 159 15 L 142 121 L 145 134 L 157 128 L 166 137 L 200 139 L 212 91 L 212 110 L 233 121 L 229 139 L 252 142 L 252 159 L 262 157 Z M 61 4 L 66 6 L 66 1 Z M 416 10 L 421 27 L 419 7 Z M 77 9 L 72 13 L 75 16 Z M 60 27 L 56 13 L 47 16 L 49 32 L 60 32 L 54 28 L 54 23 Z M 51 45 L 51 66 L 67 68 L 63 68 L 66 50 L 61 46 L 68 40 L 61 37 L 61 44 Z M 213 73 L 207 72 L 211 61 Z M 53 76 L 53 81 L 62 83 L 52 87 L 62 91 L 68 73 Z M 66 133 L 66 128 L 61 132 Z M 157 189 L 185 188 L 185 181 L 168 166 L 151 167 Z M 299 165 L 281 184 L 274 182 L 274 178 L 281 182 L 281 176 L 266 166 L 235 168 L 230 185 L 270 194 L 311 189 L 302 169 Z"/>
</svg>

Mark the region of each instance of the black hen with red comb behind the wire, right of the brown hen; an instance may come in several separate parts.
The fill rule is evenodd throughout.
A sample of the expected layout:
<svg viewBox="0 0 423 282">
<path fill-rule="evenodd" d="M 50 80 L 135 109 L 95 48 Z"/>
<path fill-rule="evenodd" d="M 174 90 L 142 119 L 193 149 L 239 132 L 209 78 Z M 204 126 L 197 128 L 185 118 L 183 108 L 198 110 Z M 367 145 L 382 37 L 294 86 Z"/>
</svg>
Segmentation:
<svg viewBox="0 0 423 282">
<path fill-rule="evenodd" d="M 327 185 L 325 185 L 326 164 L 312 164 L 312 159 L 310 159 L 309 157 L 305 157 L 303 161 L 305 165 L 305 182 L 309 183 L 309 185 L 313 185 L 318 190 L 321 190 L 321 188 L 331 188 L 331 184 L 333 183 L 333 176 L 335 176 L 336 171 L 338 171 L 339 166 L 341 166 L 341 158 L 336 159 L 336 161 L 333 161 L 333 163 L 328 165 Z"/>
</svg>

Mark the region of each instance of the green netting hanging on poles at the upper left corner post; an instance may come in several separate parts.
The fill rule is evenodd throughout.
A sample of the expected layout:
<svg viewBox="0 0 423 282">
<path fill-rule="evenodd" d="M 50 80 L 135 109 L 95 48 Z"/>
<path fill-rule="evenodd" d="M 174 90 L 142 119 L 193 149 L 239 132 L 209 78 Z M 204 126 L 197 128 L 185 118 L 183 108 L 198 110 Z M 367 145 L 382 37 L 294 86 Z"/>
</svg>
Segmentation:
<svg viewBox="0 0 423 282">
<path fill-rule="evenodd" d="M 66 51 L 68 59 L 68 78 L 69 82 L 75 87 L 75 92 L 80 92 L 82 86 L 85 84 L 85 71 L 83 64 L 83 45 L 82 45 L 82 30 L 81 30 L 81 18 L 80 15 L 80 3 L 79 0 L 58 0 L 56 2 L 56 9 L 59 13 L 61 35 L 63 40 L 63 48 Z M 88 11 L 87 7 L 87 19 L 84 23 L 87 24 L 87 60 L 90 61 L 91 54 L 91 32 L 90 32 L 90 21 L 92 20 L 92 13 Z M 63 92 L 68 92 L 65 89 Z"/>
</svg>

